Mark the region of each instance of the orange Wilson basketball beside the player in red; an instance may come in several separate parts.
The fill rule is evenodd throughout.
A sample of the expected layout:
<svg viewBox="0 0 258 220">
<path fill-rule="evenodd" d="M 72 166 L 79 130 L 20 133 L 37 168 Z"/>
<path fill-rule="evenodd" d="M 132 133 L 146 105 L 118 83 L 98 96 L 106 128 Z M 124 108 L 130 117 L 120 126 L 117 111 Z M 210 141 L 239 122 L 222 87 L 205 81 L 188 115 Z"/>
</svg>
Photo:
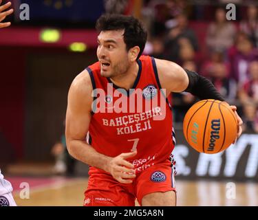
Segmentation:
<svg viewBox="0 0 258 220">
<path fill-rule="evenodd" d="M 228 104 L 201 100 L 184 116 L 184 137 L 200 153 L 224 151 L 237 137 L 237 117 Z"/>
</svg>

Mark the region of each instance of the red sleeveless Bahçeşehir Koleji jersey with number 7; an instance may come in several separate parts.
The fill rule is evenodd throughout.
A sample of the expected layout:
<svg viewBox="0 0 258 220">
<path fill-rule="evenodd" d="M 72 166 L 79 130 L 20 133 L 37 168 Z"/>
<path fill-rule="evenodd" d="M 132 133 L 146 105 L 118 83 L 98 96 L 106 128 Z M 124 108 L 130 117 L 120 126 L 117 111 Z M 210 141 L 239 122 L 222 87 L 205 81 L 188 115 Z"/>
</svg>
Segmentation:
<svg viewBox="0 0 258 220">
<path fill-rule="evenodd" d="M 138 75 L 130 91 L 110 84 L 109 78 L 100 76 L 99 62 L 87 67 L 94 91 L 102 92 L 94 98 L 88 142 L 98 153 L 110 157 L 137 149 L 137 155 L 129 162 L 135 165 L 136 172 L 141 172 L 169 159 L 175 145 L 175 133 L 171 105 L 160 90 L 154 58 L 141 56 L 138 66 Z M 96 111 L 100 109 L 100 103 L 101 106 L 105 103 L 104 111 Z"/>
</svg>

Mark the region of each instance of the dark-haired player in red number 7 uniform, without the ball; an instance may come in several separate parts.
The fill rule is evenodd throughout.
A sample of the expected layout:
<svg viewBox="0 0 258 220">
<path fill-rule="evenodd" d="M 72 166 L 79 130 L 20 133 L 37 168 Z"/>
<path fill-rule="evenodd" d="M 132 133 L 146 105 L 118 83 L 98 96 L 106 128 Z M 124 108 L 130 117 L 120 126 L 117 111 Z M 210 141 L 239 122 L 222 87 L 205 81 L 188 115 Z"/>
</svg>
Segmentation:
<svg viewBox="0 0 258 220">
<path fill-rule="evenodd" d="M 166 97 L 188 91 L 200 99 L 224 98 L 199 74 L 170 61 L 142 56 L 147 32 L 137 19 L 103 15 L 96 28 L 98 62 L 74 79 L 66 118 L 68 151 L 90 166 L 84 205 L 134 206 L 138 199 L 140 206 L 175 206 L 171 155 L 175 137 Z M 129 102 L 137 89 L 142 91 L 142 100 Z M 164 96 L 161 89 L 165 89 Z M 98 96 L 93 97 L 92 91 Z M 109 95 L 110 91 L 118 96 Z M 155 99 L 158 104 L 140 113 L 112 111 L 118 108 L 119 98 L 136 109 L 140 105 L 147 109 L 147 102 Z M 159 105 L 162 99 L 164 107 Z M 105 111 L 96 111 L 101 103 Z M 231 109 L 237 115 L 236 107 Z M 157 120 L 161 115 L 164 118 Z M 237 120 L 239 137 L 242 121 L 238 115 Z"/>
</svg>

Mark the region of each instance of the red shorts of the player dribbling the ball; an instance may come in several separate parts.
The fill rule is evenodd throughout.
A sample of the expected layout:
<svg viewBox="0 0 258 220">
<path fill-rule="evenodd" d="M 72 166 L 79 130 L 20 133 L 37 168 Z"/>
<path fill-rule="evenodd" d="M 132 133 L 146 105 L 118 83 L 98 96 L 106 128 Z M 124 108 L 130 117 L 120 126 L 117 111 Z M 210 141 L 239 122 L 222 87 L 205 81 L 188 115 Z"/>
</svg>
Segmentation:
<svg viewBox="0 0 258 220">
<path fill-rule="evenodd" d="M 175 168 L 171 162 L 154 164 L 136 175 L 132 184 L 121 184 L 109 173 L 91 168 L 84 206 L 135 206 L 152 192 L 175 191 Z"/>
</svg>

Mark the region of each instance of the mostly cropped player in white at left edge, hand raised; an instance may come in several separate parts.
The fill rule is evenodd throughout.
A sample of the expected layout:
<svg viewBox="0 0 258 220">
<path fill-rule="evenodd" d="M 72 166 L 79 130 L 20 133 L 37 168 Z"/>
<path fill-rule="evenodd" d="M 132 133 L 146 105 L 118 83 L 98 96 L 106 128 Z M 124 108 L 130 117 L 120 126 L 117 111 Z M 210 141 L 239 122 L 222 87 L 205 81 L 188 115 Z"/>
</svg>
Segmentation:
<svg viewBox="0 0 258 220">
<path fill-rule="evenodd" d="M 1 5 L 2 1 L 0 0 L 0 28 L 6 28 L 10 26 L 10 22 L 2 23 L 3 19 L 6 18 L 9 14 L 12 14 L 13 9 L 10 9 L 6 12 L 7 8 L 10 8 L 11 3 L 8 2 L 5 5 Z M 1 30 L 0 30 L 1 32 Z M 10 181 L 3 178 L 0 169 L 0 206 L 17 206 L 14 198 L 12 197 L 12 184 Z"/>
</svg>

